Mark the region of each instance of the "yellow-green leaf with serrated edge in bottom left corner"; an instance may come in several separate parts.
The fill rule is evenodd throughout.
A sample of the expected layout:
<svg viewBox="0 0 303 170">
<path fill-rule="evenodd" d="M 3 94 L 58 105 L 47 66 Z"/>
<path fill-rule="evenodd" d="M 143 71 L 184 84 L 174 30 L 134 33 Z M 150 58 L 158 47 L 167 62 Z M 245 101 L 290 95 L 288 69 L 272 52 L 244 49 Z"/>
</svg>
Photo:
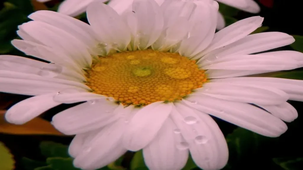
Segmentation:
<svg viewBox="0 0 303 170">
<path fill-rule="evenodd" d="M 15 161 L 13 155 L 6 148 L 4 143 L 0 142 L 0 167 L 1 170 L 13 170 Z"/>
</svg>

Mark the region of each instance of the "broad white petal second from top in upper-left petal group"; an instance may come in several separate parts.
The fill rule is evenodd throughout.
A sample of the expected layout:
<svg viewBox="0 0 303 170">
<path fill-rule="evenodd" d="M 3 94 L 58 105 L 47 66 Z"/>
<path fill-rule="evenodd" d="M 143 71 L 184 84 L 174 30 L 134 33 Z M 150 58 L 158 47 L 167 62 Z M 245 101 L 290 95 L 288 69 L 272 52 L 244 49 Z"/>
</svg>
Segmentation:
<svg viewBox="0 0 303 170">
<path fill-rule="evenodd" d="M 27 22 L 22 28 L 43 44 L 64 52 L 79 66 L 87 68 L 91 66 L 92 57 L 87 51 L 87 46 L 66 31 L 40 21 Z"/>
</svg>

